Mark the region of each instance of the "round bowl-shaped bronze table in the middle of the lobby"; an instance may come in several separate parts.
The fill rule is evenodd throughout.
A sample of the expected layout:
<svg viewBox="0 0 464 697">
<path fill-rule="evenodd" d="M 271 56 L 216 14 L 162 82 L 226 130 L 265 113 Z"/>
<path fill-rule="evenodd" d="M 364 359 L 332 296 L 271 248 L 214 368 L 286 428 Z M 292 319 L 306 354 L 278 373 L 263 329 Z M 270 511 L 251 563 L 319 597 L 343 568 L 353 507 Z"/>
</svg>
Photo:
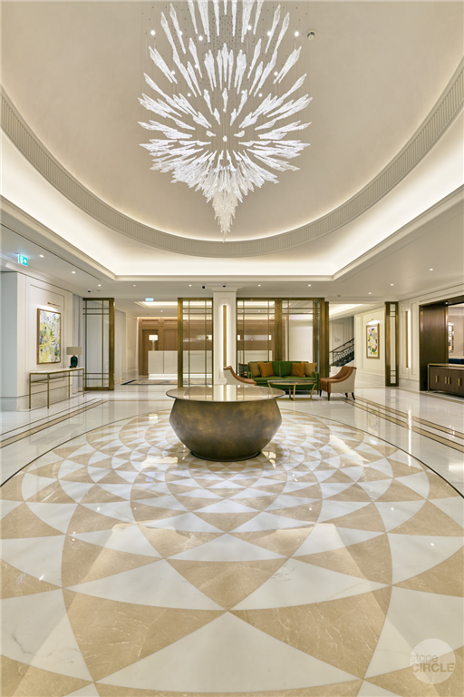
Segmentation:
<svg viewBox="0 0 464 697">
<path fill-rule="evenodd" d="M 234 462 L 259 454 L 282 423 L 281 389 L 215 385 L 170 389 L 169 423 L 179 440 L 203 460 Z"/>
</svg>

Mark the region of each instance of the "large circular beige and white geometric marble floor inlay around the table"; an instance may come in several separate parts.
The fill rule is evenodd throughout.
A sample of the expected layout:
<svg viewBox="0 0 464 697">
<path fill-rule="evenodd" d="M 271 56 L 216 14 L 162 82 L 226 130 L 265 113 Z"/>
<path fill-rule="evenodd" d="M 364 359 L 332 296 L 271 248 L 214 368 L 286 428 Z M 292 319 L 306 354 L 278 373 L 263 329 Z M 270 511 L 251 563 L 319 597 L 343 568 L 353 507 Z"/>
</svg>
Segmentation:
<svg viewBox="0 0 464 697">
<path fill-rule="evenodd" d="M 463 506 L 413 457 L 288 414 L 244 462 L 163 411 L 74 438 L 2 497 L 2 697 L 459 695 Z M 412 672 L 420 642 L 456 669 Z"/>
</svg>

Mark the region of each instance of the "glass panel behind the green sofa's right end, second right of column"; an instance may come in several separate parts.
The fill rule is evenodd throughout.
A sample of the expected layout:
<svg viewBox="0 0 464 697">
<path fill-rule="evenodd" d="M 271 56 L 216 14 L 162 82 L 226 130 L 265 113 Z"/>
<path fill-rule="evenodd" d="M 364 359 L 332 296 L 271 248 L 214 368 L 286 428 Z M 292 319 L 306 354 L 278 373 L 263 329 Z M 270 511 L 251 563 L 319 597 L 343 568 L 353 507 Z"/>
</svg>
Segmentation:
<svg viewBox="0 0 464 697">
<path fill-rule="evenodd" d="M 283 360 L 317 362 L 312 299 L 282 300 L 282 343 Z"/>
</svg>

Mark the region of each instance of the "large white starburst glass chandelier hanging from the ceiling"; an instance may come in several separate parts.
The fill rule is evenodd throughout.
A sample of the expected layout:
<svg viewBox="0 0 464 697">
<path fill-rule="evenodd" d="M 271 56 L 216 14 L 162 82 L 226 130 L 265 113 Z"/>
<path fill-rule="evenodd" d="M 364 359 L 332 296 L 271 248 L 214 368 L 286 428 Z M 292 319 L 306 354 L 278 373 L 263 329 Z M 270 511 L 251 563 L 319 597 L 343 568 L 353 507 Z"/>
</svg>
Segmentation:
<svg viewBox="0 0 464 697">
<path fill-rule="evenodd" d="M 271 170 L 298 170 L 288 161 L 309 144 L 286 140 L 310 125 L 287 121 L 312 99 L 295 95 L 305 74 L 295 82 L 287 77 L 301 45 L 279 60 L 290 15 L 282 18 L 278 5 L 272 25 L 261 30 L 263 4 L 264 0 L 188 0 L 189 13 L 182 12 L 180 21 L 170 5 L 169 17 L 161 13 L 160 24 L 172 62 L 150 46 L 160 76 L 155 81 L 145 74 L 145 80 L 159 98 L 143 94 L 140 99 L 161 120 L 140 122 L 163 135 L 142 144 L 151 153 L 151 169 L 172 172 L 172 182 L 202 191 L 213 203 L 223 240 L 238 201 L 255 186 L 278 183 Z"/>
</svg>

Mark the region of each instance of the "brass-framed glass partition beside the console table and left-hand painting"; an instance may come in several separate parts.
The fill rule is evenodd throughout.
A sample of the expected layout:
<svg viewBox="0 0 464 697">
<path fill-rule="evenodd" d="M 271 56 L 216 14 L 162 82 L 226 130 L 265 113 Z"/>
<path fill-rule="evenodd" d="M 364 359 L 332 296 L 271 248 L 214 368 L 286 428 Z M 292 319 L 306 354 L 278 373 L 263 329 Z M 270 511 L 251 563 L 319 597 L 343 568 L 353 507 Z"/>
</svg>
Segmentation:
<svg viewBox="0 0 464 697">
<path fill-rule="evenodd" d="M 114 299 L 83 299 L 85 389 L 114 389 Z"/>
</svg>

